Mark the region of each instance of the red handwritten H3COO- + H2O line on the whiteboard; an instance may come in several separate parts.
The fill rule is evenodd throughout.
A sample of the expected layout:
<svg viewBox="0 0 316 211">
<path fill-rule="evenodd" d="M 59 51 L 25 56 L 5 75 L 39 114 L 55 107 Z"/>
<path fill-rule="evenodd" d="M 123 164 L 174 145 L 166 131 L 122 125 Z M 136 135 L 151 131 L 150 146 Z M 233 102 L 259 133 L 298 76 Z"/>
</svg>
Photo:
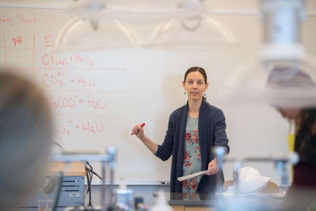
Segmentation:
<svg viewBox="0 0 316 211">
<path fill-rule="evenodd" d="M 73 108 L 73 107 L 86 107 L 92 109 L 105 109 L 107 102 L 94 96 L 60 96 L 58 99 L 47 97 L 47 104 L 52 109 Z"/>
</svg>

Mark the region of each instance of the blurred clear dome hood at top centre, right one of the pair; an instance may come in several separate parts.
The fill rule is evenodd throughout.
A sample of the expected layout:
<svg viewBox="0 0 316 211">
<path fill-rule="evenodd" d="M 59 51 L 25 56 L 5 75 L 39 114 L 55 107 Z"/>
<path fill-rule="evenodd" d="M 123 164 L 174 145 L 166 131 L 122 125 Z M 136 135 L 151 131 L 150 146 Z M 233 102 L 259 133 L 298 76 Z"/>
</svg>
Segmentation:
<svg viewBox="0 0 316 211">
<path fill-rule="evenodd" d="M 207 14 L 203 0 L 182 0 L 174 15 L 154 29 L 146 47 L 162 50 L 212 50 L 237 45 L 221 20 Z"/>
</svg>

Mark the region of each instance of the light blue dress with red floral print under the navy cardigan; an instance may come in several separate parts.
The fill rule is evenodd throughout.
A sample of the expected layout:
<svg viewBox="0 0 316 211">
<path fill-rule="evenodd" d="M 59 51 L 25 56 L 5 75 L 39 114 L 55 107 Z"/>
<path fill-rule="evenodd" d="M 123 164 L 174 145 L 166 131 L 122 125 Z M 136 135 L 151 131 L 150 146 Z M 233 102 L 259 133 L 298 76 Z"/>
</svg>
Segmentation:
<svg viewBox="0 0 316 211">
<path fill-rule="evenodd" d="M 198 118 L 187 118 L 185 144 L 184 144 L 184 161 L 183 175 L 189 175 L 201 170 L 201 153 L 198 142 Z M 197 186 L 200 176 L 193 177 L 182 181 L 183 199 L 196 199 Z"/>
</svg>

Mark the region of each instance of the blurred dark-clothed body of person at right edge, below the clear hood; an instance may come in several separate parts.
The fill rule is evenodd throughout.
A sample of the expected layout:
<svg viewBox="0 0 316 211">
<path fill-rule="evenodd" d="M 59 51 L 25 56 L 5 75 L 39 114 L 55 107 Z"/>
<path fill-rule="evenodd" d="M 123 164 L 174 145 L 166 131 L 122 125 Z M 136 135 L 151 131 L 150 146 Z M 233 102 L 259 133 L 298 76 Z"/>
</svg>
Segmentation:
<svg viewBox="0 0 316 211">
<path fill-rule="evenodd" d="M 307 211 L 316 209 L 316 109 L 280 108 L 283 117 L 295 121 L 294 150 L 300 161 L 294 166 L 285 209 Z"/>
</svg>

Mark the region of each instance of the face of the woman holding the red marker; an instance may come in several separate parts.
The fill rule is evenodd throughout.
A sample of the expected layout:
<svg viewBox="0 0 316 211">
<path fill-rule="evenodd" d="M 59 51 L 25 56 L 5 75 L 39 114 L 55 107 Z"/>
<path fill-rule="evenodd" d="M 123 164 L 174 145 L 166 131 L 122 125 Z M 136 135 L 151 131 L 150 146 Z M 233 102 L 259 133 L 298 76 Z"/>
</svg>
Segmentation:
<svg viewBox="0 0 316 211">
<path fill-rule="evenodd" d="M 187 75 L 187 79 L 185 82 L 182 82 L 182 85 L 188 94 L 188 99 L 198 101 L 202 99 L 203 92 L 206 91 L 208 83 L 205 84 L 203 75 L 195 71 Z"/>
</svg>

